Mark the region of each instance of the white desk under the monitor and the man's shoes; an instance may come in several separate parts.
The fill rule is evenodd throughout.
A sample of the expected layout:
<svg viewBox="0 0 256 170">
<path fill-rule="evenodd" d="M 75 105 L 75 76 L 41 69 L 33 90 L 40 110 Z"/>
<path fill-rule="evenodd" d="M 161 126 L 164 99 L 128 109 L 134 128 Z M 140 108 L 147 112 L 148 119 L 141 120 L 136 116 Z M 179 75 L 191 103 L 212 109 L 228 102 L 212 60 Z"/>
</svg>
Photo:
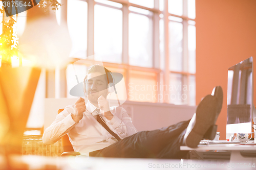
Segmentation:
<svg viewBox="0 0 256 170">
<path fill-rule="evenodd" d="M 241 145 L 241 144 L 209 144 L 198 145 L 198 148 L 189 148 L 186 146 L 180 147 L 181 151 L 197 151 L 206 152 L 209 150 L 214 151 L 230 151 L 230 162 L 256 162 L 256 145 Z M 244 157 L 241 155 L 241 151 L 250 157 Z M 250 154 L 251 153 L 251 154 Z M 246 155 L 243 154 L 243 155 Z"/>
</svg>

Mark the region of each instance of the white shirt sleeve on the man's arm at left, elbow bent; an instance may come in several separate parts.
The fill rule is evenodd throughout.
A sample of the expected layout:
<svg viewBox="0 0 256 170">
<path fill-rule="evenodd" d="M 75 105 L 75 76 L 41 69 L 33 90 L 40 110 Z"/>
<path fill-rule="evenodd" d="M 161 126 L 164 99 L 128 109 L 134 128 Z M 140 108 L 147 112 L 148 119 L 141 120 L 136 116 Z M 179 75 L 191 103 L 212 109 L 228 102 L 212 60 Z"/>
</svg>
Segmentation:
<svg viewBox="0 0 256 170">
<path fill-rule="evenodd" d="M 74 113 L 74 109 L 72 109 L 70 106 L 67 106 L 61 113 L 56 116 L 54 122 L 45 130 L 44 135 L 42 135 L 43 143 L 55 143 L 77 124 L 71 117 L 72 112 Z"/>
</svg>

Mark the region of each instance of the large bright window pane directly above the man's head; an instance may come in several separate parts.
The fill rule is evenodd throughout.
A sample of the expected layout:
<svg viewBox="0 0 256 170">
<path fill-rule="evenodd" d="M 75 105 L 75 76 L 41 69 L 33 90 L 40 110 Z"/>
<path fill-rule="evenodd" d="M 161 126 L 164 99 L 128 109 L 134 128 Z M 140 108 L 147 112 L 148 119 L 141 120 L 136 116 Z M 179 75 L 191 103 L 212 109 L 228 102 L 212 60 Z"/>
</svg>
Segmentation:
<svg viewBox="0 0 256 170">
<path fill-rule="evenodd" d="M 122 62 L 122 11 L 95 5 L 94 53 L 102 61 Z M 95 60 L 101 60 L 95 58 Z"/>
</svg>

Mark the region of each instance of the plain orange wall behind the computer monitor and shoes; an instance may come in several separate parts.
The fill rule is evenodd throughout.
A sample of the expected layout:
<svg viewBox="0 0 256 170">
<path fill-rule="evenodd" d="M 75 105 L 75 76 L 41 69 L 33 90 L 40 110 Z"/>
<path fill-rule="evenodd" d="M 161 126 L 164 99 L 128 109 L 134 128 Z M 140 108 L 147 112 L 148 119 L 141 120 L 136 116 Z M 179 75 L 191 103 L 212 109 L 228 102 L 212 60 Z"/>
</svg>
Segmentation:
<svg viewBox="0 0 256 170">
<path fill-rule="evenodd" d="M 196 104 L 212 88 L 222 86 L 224 101 L 217 120 L 220 139 L 226 139 L 227 69 L 251 56 L 256 100 L 255 9 L 255 0 L 196 0 Z"/>
</svg>

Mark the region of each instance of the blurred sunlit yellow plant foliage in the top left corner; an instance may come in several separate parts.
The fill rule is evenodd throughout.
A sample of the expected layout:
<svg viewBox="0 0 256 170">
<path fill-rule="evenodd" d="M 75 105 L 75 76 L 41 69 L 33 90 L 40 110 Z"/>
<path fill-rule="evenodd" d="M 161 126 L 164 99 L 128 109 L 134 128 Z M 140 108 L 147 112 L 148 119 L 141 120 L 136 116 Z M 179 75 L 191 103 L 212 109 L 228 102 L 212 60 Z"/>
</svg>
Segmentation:
<svg viewBox="0 0 256 170">
<path fill-rule="evenodd" d="M 50 8 L 56 11 L 61 6 L 57 0 L 41 0 L 37 5 L 44 9 L 46 13 L 49 12 Z M 4 16 L 4 6 L 2 6 L 0 12 Z M 11 66 L 11 57 L 18 56 L 17 16 L 18 14 L 3 17 L 3 31 L 0 35 L 0 64 L 2 66 Z"/>
</svg>

